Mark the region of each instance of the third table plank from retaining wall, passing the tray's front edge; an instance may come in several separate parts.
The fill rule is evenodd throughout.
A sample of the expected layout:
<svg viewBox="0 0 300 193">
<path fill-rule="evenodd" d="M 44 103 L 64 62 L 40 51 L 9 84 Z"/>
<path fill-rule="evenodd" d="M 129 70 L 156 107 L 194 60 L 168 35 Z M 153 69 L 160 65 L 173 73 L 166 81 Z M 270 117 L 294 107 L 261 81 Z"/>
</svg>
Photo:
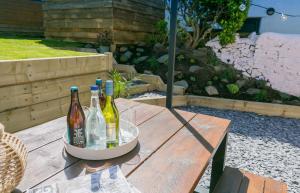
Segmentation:
<svg viewBox="0 0 300 193">
<path fill-rule="evenodd" d="M 43 185 L 85 175 L 89 173 L 89 169 L 86 170 L 89 167 L 95 167 L 99 170 L 111 165 L 119 165 L 123 173 L 128 176 L 195 116 L 194 113 L 190 112 L 180 110 L 176 112 L 181 116 L 181 119 L 177 119 L 171 111 L 165 109 L 157 116 L 141 124 L 139 126 L 139 146 L 129 154 L 107 161 L 80 161 L 43 182 Z"/>
</svg>

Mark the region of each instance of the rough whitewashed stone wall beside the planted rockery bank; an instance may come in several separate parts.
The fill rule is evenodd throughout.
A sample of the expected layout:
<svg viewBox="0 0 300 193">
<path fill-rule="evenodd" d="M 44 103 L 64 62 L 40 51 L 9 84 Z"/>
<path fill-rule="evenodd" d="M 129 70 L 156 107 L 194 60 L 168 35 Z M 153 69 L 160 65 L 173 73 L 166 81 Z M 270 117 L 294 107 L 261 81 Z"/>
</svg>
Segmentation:
<svg viewBox="0 0 300 193">
<path fill-rule="evenodd" d="M 245 75 L 268 80 L 273 89 L 300 96 L 300 35 L 264 33 L 257 39 L 238 38 L 225 48 L 217 39 L 207 46 Z"/>
</svg>

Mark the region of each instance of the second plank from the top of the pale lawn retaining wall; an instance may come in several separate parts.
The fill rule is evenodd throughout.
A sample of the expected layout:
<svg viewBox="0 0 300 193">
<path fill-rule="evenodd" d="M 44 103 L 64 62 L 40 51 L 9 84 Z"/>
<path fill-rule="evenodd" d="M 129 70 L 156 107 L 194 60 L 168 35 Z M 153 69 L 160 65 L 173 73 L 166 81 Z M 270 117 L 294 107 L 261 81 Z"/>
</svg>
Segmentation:
<svg viewBox="0 0 300 193">
<path fill-rule="evenodd" d="M 97 77 L 105 80 L 108 75 L 107 72 L 93 73 L 1 87 L 0 112 L 68 96 L 72 85 L 78 86 L 80 92 L 87 92 Z"/>
</svg>

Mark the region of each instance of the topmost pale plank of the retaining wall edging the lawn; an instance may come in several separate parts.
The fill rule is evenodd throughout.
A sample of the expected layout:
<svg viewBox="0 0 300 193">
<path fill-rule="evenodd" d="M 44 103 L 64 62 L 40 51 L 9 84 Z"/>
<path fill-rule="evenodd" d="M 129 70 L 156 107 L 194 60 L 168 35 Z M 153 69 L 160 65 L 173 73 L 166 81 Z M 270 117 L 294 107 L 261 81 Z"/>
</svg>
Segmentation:
<svg viewBox="0 0 300 193">
<path fill-rule="evenodd" d="M 76 56 L 0 61 L 0 87 L 107 71 L 109 56 Z"/>
</svg>

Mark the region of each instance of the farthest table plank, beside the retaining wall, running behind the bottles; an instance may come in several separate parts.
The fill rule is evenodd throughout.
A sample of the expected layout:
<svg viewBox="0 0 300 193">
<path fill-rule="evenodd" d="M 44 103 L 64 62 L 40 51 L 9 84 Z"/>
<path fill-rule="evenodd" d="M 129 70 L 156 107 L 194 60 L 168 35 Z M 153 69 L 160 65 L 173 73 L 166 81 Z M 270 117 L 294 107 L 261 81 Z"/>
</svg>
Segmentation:
<svg viewBox="0 0 300 193">
<path fill-rule="evenodd" d="M 117 99 L 116 105 L 122 113 L 128 109 L 140 105 L 134 101 L 125 99 Z M 29 152 L 40 148 L 48 143 L 54 142 L 62 138 L 66 129 L 66 116 L 49 121 L 47 123 L 17 132 L 16 135 L 24 142 Z"/>
</svg>

